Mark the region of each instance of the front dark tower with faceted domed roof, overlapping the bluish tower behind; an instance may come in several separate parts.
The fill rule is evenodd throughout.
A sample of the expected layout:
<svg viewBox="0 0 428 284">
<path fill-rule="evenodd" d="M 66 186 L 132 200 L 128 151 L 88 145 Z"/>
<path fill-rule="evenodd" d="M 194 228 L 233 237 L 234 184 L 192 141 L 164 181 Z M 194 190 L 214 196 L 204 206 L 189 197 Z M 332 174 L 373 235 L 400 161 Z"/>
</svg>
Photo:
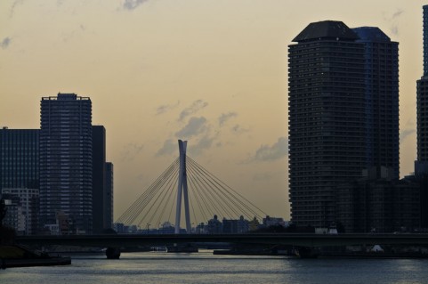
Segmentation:
<svg viewBox="0 0 428 284">
<path fill-rule="evenodd" d="M 340 21 L 311 23 L 288 46 L 292 222 L 335 222 L 335 186 L 366 166 L 364 45 Z"/>
</svg>

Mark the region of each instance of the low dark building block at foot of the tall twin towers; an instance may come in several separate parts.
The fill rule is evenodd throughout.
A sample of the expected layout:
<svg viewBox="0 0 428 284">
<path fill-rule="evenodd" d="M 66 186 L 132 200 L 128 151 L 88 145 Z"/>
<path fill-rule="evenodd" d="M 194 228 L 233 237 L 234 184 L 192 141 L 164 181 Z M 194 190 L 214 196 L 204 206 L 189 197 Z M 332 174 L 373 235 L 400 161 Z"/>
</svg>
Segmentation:
<svg viewBox="0 0 428 284">
<path fill-rule="evenodd" d="M 420 184 L 415 176 L 395 180 L 374 174 L 339 187 L 337 223 L 345 232 L 411 232 L 421 228 Z"/>
</svg>

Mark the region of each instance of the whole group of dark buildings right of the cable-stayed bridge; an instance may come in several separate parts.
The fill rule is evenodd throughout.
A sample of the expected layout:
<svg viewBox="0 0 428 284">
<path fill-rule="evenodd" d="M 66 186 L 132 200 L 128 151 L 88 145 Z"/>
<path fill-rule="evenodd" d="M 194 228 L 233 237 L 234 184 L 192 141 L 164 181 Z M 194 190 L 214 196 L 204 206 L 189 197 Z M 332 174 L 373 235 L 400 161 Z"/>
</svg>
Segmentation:
<svg viewBox="0 0 428 284">
<path fill-rule="evenodd" d="M 292 222 L 346 232 L 428 228 L 428 6 L 416 173 L 400 179 L 399 48 L 379 28 L 311 23 L 289 45 Z M 426 81 L 426 82 L 425 82 Z"/>
</svg>

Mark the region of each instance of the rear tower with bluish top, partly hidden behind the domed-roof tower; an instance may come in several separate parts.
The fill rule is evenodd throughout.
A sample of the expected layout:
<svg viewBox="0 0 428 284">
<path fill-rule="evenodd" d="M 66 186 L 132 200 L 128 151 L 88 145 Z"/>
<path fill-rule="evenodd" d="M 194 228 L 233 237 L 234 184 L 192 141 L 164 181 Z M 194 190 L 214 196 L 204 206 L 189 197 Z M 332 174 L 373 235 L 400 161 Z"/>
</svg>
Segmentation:
<svg viewBox="0 0 428 284">
<path fill-rule="evenodd" d="M 367 169 L 400 178 L 399 43 L 380 28 L 352 28 L 364 44 Z"/>
</svg>

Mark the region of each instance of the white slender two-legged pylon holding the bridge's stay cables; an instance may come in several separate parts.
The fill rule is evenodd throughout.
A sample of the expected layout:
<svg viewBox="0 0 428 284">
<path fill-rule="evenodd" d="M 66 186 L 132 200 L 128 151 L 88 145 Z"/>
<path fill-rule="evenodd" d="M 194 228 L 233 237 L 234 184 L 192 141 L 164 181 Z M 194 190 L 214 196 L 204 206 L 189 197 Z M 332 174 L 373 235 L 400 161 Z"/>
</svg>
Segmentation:
<svg viewBox="0 0 428 284">
<path fill-rule="evenodd" d="M 175 230 L 176 234 L 180 233 L 180 220 L 182 217 L 182 196 L 184 197 L 184 214 L 186 216 L 186 231 L 191 233 L 190 211 L 189 211 L 189 192 L 187 187 L 187 171 L 186 171 L 186 148 L 187 141 L 178 141 L 178 150 L 180 151 L 180 169 L 178 175 L 178 190 L 177 190 L 177 211 L 175 214 Z"/>
</svg>

